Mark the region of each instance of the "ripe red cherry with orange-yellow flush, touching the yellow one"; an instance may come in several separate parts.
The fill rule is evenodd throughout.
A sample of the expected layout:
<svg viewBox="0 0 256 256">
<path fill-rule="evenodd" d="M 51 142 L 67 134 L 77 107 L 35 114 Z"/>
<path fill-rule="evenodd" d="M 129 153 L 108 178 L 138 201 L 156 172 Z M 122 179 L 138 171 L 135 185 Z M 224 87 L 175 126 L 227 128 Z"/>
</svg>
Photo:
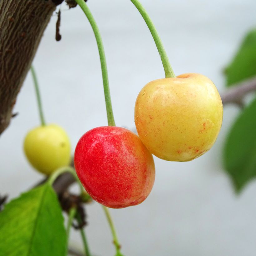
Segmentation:
<svg viewBox="0 0 256 256">
<path fill-rule="evenodd" d="M 140 204 L 155 181 L 152 154 L 135 133 L 122 127 L 87 131 L 76 145 L 74 165 L 88 194 L 110 208 Z"/>
</svg>

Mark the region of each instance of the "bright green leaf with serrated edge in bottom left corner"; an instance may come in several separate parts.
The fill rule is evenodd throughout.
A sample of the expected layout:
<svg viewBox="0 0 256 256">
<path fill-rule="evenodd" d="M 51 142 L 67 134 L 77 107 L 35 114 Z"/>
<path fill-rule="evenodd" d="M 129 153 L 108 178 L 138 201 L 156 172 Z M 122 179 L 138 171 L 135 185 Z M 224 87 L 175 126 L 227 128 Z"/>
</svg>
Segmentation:
<svg viewBox="0 0 256 256">
<path fill-rule="evenodd" d="M 66 231 L 57 195 L 44 184 L 0 212 L 0 255 L 64 256 Z"/>
</svg>

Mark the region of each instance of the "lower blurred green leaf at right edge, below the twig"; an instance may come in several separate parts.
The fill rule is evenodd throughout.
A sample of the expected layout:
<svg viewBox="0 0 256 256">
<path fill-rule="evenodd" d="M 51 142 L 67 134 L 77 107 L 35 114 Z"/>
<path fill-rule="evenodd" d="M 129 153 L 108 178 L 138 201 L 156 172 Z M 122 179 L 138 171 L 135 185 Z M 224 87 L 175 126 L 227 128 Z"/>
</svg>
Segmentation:
<svg viewBox="0 0 256 256">
<path fill-rule="evenodd" d="M 224 166 L 237 192 L 256 177 L 256 99 L 230 130 L 224 147 Z"/>
</svg>

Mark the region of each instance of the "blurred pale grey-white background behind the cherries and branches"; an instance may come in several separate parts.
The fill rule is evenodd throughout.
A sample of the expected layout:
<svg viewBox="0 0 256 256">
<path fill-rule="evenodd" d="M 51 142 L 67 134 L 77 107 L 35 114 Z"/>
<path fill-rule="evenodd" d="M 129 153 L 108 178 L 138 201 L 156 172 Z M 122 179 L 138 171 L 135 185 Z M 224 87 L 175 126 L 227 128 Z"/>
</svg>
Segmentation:
<svg viewBox="0 0 256 256">
<path fill-rule="evenodd" d="M 141 0 L 155 23 L 175 74 L 197 72 L 226 89 L 224 67 L 245 34 L 256 27 L 255 0 Z M 101 30 L 117 126 L 135 129 L 134 104 L 140 89 L 164 77 L 154 41 L 130 1 L 89 0 Z M 80 8 L 61 6 L 62 40 L 55 41 L 54 15 L 34 60 L 46 121 L 63 126 L 72 149 L 87 130 L 107 125 L 100 61 L 92 29 Z M 43 176 L 22 150 L 28 130 L 40 124 L 31 74 L 1 135 L 1 194 L 9 199 Z M 192 162 L 155 158 L 155 185 L 142 204 L 111 209 L 122 251 L 134 255 L 253 256 L 256 244 L 256 183 L 237 196 L 223 168 L 223 145 L 239 108 L 224 107 L 214 147 Z M 111 233 L 99 204 L 87 206 L 91 252 L 113 255 Z M 82 249 L 79 232 L 70 244 Z"/>
</svg>

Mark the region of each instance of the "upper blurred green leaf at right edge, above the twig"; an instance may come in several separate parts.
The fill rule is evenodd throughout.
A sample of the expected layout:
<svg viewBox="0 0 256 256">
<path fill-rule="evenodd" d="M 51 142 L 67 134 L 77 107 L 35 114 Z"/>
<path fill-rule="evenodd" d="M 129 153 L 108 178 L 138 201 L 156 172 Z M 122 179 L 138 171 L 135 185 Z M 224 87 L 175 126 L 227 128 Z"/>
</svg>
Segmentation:
<svg viewBox="0 0 256 256">
<path fill-rule="evenodd" d="M 225 73 L 227 86 L 256 75 L 256 29 L 247 34 Z"/>
</svg>

